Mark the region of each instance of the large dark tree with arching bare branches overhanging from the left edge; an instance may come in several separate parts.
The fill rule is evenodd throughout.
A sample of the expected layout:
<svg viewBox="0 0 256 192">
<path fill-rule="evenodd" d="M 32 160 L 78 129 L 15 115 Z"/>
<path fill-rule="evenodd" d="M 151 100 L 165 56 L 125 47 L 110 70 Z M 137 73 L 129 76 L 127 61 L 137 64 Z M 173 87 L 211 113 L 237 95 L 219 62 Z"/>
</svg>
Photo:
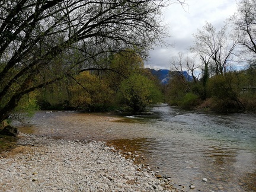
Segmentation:
<svg viewBox="0 0 256 192">
<path fill-rule="evenodd" d="M 179 1 L 177 1 L 179 2 Z M 23 95 L 78 72 L 107 70 L 110 53 L 148 50 L 164 36 L 168 1 L 2 0 L 0 122 Z"/>
</svg>

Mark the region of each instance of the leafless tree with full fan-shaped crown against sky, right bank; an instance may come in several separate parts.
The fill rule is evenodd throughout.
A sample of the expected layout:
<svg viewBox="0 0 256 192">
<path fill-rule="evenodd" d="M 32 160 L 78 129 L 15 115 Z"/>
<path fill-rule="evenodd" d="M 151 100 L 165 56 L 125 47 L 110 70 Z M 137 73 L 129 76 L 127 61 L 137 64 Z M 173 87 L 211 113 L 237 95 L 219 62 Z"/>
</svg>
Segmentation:
<svg viewBox="0 0 256 192">
<path fill-rule="evenodd" d="M 207 23 L 199 29 L 194 36 L 194 46 L 191 52 L 197 53 L 201 58 L 209 60 L 215 75 L 228 71 L 228 62 L 235 54 L 235 47 L 239 36 L 228 36 L 228 26 L 224 25 L 219 31 Z M 209 66 L 210 67 L 210 66 Z"/>
</svg>

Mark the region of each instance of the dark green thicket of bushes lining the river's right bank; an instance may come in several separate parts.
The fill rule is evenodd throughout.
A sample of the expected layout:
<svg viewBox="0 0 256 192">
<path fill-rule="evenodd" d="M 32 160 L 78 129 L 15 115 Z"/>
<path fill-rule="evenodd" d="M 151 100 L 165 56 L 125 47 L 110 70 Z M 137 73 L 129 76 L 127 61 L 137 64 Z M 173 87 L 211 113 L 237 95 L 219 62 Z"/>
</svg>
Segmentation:
<svg viewBox="0 0 256 192">
<path fill-rule="evenodd" d="M 251 68 L 242 72 L 228 72 L 212 76 L 206 84 L 203 80 L 183 84 L 183 79 L 175 76 L 165 90 L 166 100 L 171 105 L 183 108 L 200 105 L 227 113 L 255 111 L 255 73 L 255 69 Z"/>
</svg>

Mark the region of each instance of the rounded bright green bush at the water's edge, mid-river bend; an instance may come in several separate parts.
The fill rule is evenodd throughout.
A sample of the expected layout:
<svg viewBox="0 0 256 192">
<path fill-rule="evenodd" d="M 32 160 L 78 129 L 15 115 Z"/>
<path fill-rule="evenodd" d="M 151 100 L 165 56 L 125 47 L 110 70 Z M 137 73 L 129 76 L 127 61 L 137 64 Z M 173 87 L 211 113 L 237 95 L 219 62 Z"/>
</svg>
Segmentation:
<svg viewBox="0 0 256 192">
<path fill-rule="evenodd" d="M 161 101 L 161 92 L 146 76 L 134 74 L 121 82 L 119 101 L 133 109 L 143 111 L 146 106 Z"/>
</svg>

